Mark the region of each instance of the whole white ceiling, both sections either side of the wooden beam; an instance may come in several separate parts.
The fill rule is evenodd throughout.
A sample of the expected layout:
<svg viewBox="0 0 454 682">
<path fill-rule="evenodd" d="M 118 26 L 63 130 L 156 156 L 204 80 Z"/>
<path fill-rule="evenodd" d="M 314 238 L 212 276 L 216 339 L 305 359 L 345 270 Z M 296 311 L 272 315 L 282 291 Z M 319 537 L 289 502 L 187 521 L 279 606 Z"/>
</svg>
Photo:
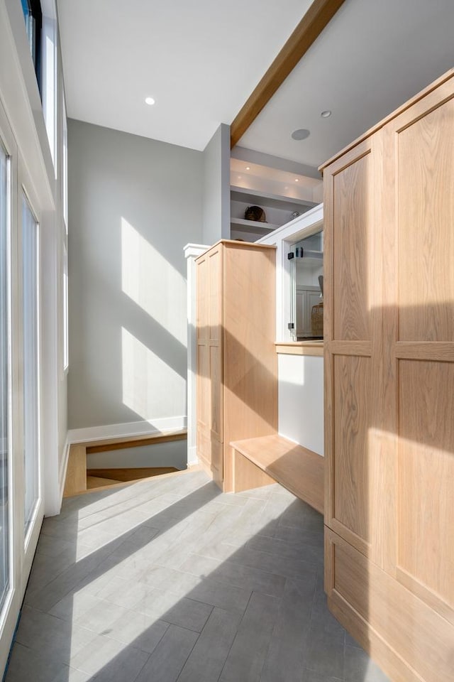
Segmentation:
<svg viewBox="0 0 454 682">
<path fill-rule="evenodd" d="M 310 4 L 57 0 L 68 115 L 204 149 Z M 454 0 L 345 0 L 239 146 L 319 166 L 454 66 L 453 29 Z"/>
</svg>

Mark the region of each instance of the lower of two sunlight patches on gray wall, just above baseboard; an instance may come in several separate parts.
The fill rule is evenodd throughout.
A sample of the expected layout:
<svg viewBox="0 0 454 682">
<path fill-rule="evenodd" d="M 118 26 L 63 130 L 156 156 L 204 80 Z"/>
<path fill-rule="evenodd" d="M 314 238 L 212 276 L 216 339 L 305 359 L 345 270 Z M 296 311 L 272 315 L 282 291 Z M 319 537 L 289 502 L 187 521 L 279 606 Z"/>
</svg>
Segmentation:
<svg viewBox="0 0 454 682">
<path fill-rule="evenodd" d="M 172 367 L 153 353 L 124 327 L 121 328 L 123 404 L 145 421 L 179 415 L 186 382 Z M 165 396 L 164 415 L 160 405 Z"/>
</svg>

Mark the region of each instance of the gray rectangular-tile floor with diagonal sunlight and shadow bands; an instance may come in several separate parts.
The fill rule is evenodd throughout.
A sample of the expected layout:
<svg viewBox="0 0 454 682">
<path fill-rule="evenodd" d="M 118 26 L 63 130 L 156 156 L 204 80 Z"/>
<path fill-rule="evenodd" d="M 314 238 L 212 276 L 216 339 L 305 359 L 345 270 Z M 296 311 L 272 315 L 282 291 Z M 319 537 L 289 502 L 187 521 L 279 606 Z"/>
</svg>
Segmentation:
<svg viewBox="0 0 454 682">
<path fill-rule="evenodd" d="M 203 472 L 45 519 L 6 682 L 384 682 L 328 612 L 323 519 Z"/>
</svg>

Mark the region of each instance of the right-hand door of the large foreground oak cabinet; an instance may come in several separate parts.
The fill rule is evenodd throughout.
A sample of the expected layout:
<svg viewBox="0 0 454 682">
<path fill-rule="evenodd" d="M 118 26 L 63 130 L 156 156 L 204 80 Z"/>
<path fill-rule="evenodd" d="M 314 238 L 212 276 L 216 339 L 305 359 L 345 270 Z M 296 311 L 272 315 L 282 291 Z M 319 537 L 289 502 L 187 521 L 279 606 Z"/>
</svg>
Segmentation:
<svg viewBox="0 0 454 682">
<path fill-rule="evenodd" d="M 394 570 L 454 624 L 454 79 L 382 139 Z"/>
</svg>

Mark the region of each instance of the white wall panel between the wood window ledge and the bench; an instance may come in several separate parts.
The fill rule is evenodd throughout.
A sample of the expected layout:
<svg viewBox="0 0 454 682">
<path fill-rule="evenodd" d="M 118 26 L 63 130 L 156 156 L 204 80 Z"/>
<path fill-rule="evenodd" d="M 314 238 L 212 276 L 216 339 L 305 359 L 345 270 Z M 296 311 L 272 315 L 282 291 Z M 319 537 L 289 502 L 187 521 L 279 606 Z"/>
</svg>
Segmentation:
<svg viewBox="0 0 454 682">
<path fill-rule="evenodd" d="M 323 455 L 323 357 L 278 356 L 279 434 Z"/>
</svg>

